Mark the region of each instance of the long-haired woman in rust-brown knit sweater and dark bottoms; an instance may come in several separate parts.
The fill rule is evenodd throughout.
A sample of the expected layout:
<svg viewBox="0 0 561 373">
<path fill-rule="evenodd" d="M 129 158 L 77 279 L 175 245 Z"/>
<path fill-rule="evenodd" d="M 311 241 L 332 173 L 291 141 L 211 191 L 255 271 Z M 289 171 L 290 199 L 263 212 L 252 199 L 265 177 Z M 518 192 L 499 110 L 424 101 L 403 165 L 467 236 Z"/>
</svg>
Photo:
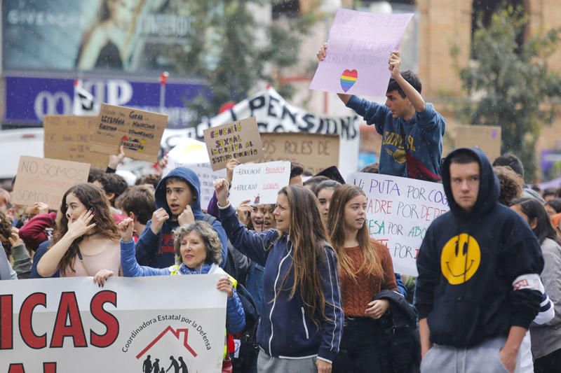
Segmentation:
<svg viewBox="0 0 561 373">
<path fill-rule="evenodd" d="M 334 372 L 384 372 L 376 335 L 388 300 L 373 300 L 381 290 L 397 290 L 393 263 L 386 246 L 370 239 L 366 196 L 356 185 L 342 185 L 331 199 L 327 218 L 331 244 L 339 260 L 345 314 Z"/>
</svg>

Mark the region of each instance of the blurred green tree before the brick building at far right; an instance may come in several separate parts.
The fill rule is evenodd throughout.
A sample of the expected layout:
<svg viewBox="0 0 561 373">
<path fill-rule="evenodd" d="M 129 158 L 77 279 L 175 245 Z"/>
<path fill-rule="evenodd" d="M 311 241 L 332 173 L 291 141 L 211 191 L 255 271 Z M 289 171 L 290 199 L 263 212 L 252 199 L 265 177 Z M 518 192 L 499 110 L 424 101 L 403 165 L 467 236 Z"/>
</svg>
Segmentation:
<svg viewBox="0 0 561 373">
<path fill-rule="evenodd" d="M 545 62 L 555 51 L 561 30 L 552 29 L 519 45 L 517 36 L 526 24 L 523 10 L 507 6 L 496 11 L 489 27 L 480 24 L 475 31 L 475 61 L 460 73 L 473 99 L 461 116 L 474 125 L 501 126 L 501 153 L 518 155 L 527 181 L 532 181 L 536 140 L 541 128 L 553 122 L 553 103 L 561 97 L 561 78 Z"/>
</svg>

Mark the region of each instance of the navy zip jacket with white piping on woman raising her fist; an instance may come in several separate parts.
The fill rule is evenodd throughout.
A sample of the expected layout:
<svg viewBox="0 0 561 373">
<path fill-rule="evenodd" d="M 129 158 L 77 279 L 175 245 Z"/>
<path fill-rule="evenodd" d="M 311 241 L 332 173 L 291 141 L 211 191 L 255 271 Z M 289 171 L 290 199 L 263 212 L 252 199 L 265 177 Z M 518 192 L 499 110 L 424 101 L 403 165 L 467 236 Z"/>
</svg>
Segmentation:
<svg viewBox="0 0 561 373">
<path fill-rule="evenodd" d="M 261 318 L 257 326 L 259 347 L 276 358 L 318 356 L 332 362 L 339 351 L 344 321 L 337 255 L 333 248 L 325 243 L 318 262 L 326 318 L 319 311 L 312 317 L 305 310 L 300 290 L 290 297 L 295 278 L 292 242 L 287 235 L 279 237 L 277 230 L 248 230 L 240 223 L 232 206 L 219 209 L 219 215 L 231 243 L 264 267 Z"/>
</svg>

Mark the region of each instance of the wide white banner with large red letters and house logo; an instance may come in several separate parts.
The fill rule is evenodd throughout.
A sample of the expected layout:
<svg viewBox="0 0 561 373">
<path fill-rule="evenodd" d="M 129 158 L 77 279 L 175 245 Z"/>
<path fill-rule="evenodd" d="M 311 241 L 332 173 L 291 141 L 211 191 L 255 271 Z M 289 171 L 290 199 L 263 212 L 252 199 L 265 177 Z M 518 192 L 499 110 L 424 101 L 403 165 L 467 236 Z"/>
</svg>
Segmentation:
<svg viewBox="0 0 561 373">
<path fill-rule="evenodd" d="M 189 372 L 222 372 L 221 276 L 111 277 L 104 288 L 91 277 L 5 281 L 0 370 L 147 372 L 171 356 Z"/>
</svg>

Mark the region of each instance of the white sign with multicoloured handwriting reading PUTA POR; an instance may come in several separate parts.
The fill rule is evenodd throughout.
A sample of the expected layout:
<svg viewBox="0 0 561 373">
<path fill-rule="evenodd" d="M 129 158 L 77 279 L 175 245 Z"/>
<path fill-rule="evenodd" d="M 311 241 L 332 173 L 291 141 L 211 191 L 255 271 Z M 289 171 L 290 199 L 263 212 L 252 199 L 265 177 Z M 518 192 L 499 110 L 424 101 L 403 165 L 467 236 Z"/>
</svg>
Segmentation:
<svg viewBox="0 0 561 373">
<path fill-rule="evenodd" d="M 370 237 L 386 245 L 393 269 L 417 276 L 417 254 L 432 221 L 449 210 L 442 184 L 398 176 L 349 175 L 347 183 L 366 194 Z"/>
</svg>

